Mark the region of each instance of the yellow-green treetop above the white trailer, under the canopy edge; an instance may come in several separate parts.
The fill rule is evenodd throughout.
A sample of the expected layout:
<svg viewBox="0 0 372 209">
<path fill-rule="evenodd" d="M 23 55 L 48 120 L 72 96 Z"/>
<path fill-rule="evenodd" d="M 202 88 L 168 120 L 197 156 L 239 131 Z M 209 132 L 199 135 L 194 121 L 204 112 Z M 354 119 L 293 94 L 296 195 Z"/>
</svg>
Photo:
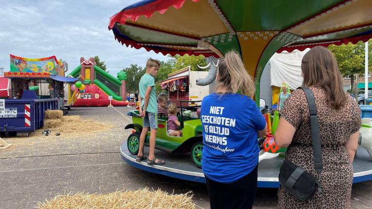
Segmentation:
<svg viewBox="0 0 372 209">
<path fill-rule="evenodd" d="M 192 71 L 208 71 L 208 69 L 200 69 L 198 68 L 198 64 L 199 66 L 205 66 L 207 65 L 206 61 L 205 61 L 205 57 L 202 56 L 202 55 L 199 55 L 199 56 L 194 56 L 194 55 L 184 55 L 184 56 L 180 56 L 180 55 L 176 55 L 174 56 L 174 60 L 175 60 L 175 63 L 174 63 L 174 70 L 179 70 L 179 69 L 182 69 L 188 65 L 191 66 L 191 70 Z"/>
</svg>

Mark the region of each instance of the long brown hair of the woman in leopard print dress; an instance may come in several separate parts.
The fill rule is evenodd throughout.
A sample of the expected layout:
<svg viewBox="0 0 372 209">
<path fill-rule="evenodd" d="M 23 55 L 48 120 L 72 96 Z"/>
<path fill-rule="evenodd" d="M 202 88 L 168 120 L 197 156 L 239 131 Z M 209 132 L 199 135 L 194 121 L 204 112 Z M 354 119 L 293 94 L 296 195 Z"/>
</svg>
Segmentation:
<svg viewBox="0 0 372 209">
<path fill-rule="evenodd" d="M 304 81 L 302 87 L 322 87 L 327 102 L 340 109 L 346 102 L 342 77 L 333 54 L 323 46 L 315 46 L 305 54 L 301 64 Z"/>
</svg>

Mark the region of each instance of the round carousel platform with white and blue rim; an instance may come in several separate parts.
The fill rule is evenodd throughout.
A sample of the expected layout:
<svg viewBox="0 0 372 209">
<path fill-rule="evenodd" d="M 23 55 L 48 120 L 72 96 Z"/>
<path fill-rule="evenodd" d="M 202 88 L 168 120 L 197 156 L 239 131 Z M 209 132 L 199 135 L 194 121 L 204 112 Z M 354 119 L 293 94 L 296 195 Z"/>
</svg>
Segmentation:
<svg viewBox="0 0 372 209">
<path fill-rule="evenodd" d="M 205 183 L 202 169 L 197 168 L 190 159 L 190 154 L 170 154 L 155 149 L 155 156 L 164 159 L 166 164 L 147 165 L 147 161 L 136 162 L 136 156 L 129 153 L 126 141 L 120 146 L 122 160 L 127 164 L 137 167 L 141 170 L 161 174 L 177 179 L 184 179 Z M 145 147 L 144 152 L 149 153 L 149 148 Z M 276 157 L 273 159 L 262 160 L 258 167 L 258 187 L 278 188 L 279 187 L 279 168 L 283 159 Z M 363 148 L 356 151 L 353 183 L 372 180 L 372 159 L 368 152 Z"/>
</svg>

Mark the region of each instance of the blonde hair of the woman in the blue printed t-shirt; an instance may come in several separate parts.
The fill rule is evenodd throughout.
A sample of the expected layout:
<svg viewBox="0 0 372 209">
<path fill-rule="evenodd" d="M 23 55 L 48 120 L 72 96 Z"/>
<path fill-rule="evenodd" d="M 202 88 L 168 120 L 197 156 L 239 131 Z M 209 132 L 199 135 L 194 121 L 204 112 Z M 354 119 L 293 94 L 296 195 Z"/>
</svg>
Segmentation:
<svg viewBox="0 0 372 209">
<path fill-rule="evenodd" d="M 229 51 L 225 57 L 219 60 L 218 79 L 215 90 L 225 88 L 228 92 L 252 97 L 255 91 L 254 82 L 248 75 L 239 54 L 235 51 Z"/>
</svg>

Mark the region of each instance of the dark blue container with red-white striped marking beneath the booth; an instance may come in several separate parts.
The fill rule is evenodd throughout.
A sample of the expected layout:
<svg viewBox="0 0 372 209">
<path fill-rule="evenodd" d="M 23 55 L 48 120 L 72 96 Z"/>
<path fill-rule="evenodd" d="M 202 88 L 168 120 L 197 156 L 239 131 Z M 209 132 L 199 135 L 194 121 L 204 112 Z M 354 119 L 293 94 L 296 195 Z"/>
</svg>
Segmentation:
<svg viewBox="0 0 372 209">
<path fill-rule="evenodd" d="M 58 99 L 5 99 L 0 132 L 30 133 L 44 125 L 44 112 L 58 109 Z"/>
</svg>

